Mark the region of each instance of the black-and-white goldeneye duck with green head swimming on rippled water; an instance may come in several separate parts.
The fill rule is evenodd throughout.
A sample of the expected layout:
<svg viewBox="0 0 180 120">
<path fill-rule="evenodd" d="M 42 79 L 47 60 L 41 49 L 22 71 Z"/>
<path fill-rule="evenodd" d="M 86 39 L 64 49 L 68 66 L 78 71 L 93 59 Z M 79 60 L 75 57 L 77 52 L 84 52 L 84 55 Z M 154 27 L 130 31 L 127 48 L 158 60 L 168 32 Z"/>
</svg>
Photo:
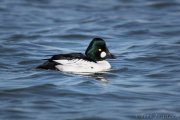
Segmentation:
<svg viewBox="0 0 180 120">
<path fill-rule="evenodd" d="M 72 73 L 95 73 L 107 71 L 111 65 L 105 59 L 115 58 L 103 39 L 94 38 L 85 55 L 82 53 L 58 54 L 38 66 L 41 69 L 59 70 Z"/>
</svg>

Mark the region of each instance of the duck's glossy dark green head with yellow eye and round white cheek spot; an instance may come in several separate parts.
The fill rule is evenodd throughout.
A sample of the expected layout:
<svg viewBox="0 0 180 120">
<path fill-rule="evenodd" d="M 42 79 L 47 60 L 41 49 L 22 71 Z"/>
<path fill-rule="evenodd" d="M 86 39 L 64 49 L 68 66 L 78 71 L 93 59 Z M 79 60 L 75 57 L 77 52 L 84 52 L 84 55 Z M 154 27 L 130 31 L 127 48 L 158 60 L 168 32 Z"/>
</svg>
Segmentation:
<svg viewBox="0 0 180 120">
<path fill-rule="evenodd" d="M 109 52 L 105 41 L 101 38 L 94 38 L 86 49 L 85 54 L 89 59 L 93 61 L 101 61 L 107 58 L 115 58 L 114 55 Z"/>
</svg>

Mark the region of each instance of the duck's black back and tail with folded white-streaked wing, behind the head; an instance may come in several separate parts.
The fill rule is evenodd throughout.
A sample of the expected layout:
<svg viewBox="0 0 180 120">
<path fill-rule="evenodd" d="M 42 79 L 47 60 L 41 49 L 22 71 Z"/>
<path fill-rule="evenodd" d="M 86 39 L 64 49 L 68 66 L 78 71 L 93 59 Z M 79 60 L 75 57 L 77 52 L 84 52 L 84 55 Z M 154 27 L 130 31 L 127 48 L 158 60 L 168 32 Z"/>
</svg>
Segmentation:
<svg viewBox="0 0 180 120">
<path fill-rule="evenodd" d="M 88 58 L 82 53 L 58 54 L 52 56 L 50 59 L 47 59 L 45 63 L 38 66 L 37 68 L 57 70 L 57 65 L 72 64 L 75 62 L 73 60 L 76 59 L 88 60 Z"/>
</svg>

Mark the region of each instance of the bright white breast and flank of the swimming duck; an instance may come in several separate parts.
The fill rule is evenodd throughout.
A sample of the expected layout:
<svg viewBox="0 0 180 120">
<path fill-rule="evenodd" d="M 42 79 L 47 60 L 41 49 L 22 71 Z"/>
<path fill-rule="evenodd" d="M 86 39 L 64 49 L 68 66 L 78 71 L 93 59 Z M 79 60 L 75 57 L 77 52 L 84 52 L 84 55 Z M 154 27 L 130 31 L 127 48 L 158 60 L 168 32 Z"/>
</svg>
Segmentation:
<svg viewBox="0 0 180 120">
<path fill-rule="evenodd" d="M 95 73 L 101 71 L 107 71 L 111 68 L 111 65 L 103 60 L 95 62 L 86 61 L 83 59 L 74 60 L 54 60 L 61 65 L 56 65 L 55 67 L 60 71 L 74 72 L 74 73 Z"/>
</svg>

